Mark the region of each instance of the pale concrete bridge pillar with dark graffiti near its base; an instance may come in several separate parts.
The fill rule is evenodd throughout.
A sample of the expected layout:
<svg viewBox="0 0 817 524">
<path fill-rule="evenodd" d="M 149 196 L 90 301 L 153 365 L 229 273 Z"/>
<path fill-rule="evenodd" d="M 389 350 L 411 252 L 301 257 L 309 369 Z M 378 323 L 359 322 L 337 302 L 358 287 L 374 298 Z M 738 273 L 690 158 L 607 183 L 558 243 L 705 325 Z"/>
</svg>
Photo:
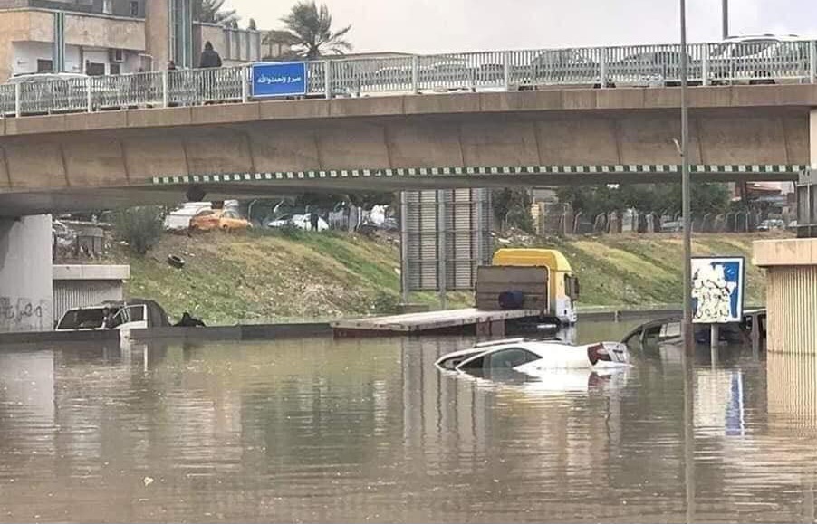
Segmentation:
<svg viewBox="0 0 817 524">
<path fill-rule="evenodd" d="M 51 215 L 0 219 L 0 333 L 53 329 Z"/>
</svg>

